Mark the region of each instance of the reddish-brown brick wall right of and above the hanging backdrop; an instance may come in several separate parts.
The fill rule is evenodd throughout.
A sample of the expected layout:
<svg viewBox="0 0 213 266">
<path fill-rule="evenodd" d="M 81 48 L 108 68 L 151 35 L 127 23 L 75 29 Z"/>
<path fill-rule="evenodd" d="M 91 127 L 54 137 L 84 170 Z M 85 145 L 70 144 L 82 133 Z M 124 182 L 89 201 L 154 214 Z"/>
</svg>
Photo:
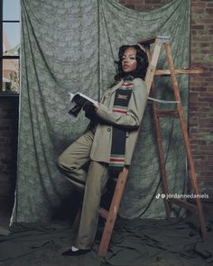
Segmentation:
<svg viewBox="0 0 213 266">
<path fill-rule="evenodd" d="M 170 0 L 120 0 L 148 10 Z M 199 188 L 213 199 L 213 0 L 191 0 L 190 65 L 204 70 L 190 76 L 189 133 Z"/>
</svg>

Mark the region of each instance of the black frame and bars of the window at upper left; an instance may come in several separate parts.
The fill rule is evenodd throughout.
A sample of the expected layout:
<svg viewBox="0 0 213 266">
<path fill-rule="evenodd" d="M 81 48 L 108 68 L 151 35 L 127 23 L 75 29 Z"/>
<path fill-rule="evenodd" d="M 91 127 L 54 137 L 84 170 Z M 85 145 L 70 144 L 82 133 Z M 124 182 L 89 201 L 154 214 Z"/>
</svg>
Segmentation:
<svg viewBox="0 0 213 266">
<path fill-rule="evenodd" d="M 4 49 L 4 45 L 3 45 L 3 26 L 4 23 L 20 23 L 20 20 L 4 20 L 3 19 L 3 7 L 4 7 L 4 1 L 6 0 L 0 0 L 0 96 L 1 95 L 19 95 L 19 92 L 14 92 L 14 91 L 3 91 L 3 61 L 4 60 L 19 60 L 19 65 L 20 65 L 20 55 L 3 55 L 3 49 Z M 19 75 L 20 75 L 20 68 L 19 68 Z M 20 84 L 19 84 L 20 85 Z M 19 87 L 19 91 L 20 91 L 20 87 Z"/>
</svg>

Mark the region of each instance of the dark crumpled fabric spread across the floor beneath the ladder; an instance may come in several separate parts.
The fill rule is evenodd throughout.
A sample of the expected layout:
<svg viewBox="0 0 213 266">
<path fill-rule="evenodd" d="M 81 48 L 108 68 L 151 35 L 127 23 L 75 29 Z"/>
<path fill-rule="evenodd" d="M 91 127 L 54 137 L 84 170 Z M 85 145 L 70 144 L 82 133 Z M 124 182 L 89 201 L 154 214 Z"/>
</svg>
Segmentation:
<svg viewBox="0 0 213 266">
<path fill-rule="evenodd" d="M 13 261 L 42 250 L 51 252 L 48 247 L 52 245 L 57 247 L 60 258 L 61 249 L 70 247 L 73 242 L 74 232 L 66 225 L 19 224 L 12 229 L 11 234 L 0 236 L 0 261 Z M 97 257 L 96 241 L 92 251 L 83 256 L 82 265 L 175 265 L 180 261 L 182 265 L 188 265 L 184 264 L 187 262 L 210 265 L 208 263 L 213 262 L 212 230 L 213 220 L 208 222 L 208 238 L 203 243 L 199 230 L 185 221 L 118 218 L 106 256 Z"/>
</svg>

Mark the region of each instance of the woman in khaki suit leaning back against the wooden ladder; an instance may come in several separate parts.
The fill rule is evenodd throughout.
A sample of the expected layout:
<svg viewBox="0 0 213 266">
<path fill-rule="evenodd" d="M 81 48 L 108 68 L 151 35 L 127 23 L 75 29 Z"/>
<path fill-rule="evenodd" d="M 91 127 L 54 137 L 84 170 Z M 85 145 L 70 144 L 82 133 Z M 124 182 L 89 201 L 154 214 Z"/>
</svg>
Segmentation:
<svg viewBox="0 0 213 266">
<path fill-rule="evenodd" d="M 118 57 L 116 85 L 106 91 L 99 104 L 85 106 L 90 128 L 58 160 L 60 170 L 84 191 L 79 234 L 74 246 L 62 255 L 88 252 L 97 231 L 106 181 L 112 171 L 119 173 L 131 163 L 148 97 L 143 80 L 148 60 L 139 44 L 121 46 Z"/>
</svg>

